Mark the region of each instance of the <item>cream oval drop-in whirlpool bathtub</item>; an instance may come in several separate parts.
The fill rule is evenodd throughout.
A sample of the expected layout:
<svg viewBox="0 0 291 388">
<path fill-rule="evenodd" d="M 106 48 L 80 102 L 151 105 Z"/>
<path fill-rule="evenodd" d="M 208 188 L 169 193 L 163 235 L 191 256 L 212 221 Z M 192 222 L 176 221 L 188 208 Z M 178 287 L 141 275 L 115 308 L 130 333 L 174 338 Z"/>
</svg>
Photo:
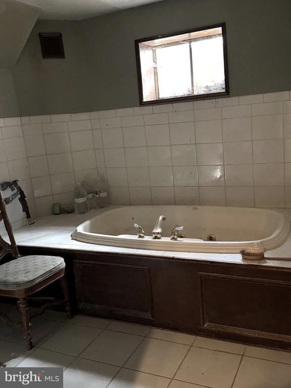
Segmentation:
<svg viewBox="0 0 291 388">
<path fill-rule="evenodd" d="M 162 239 L 152 237 L 160 215 Z M 134 223 L 146 232 L 137 237 Z M 171 230 L 184 226 L 184 238 L 170 239 Z M 290 221 L 278 211 L 216 206 L 119 206 L 83 222 L 72 238 L 84 243 L 155 251 L 239 253 L 244 248 L 265 251 L 281 246 L 288 237 Z M 213 235 L 216 241 L 207 238 Z"/>
</svg>

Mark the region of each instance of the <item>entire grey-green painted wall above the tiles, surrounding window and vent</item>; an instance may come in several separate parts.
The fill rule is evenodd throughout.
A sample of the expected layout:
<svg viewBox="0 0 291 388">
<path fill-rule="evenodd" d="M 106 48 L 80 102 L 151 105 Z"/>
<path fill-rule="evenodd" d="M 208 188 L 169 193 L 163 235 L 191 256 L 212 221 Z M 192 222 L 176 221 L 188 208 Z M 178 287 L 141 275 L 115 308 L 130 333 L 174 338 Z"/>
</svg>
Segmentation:
<svg viewBox="0 0 291 388">
<path fill-rule="evenodd" d="M 39 21 L 13 71 L 20 113 L 136 106 L 134 39 L 219 22 L 231 95 L 291 89 L 290 15 L 290 0 L 167 0 L 81 22 Z M 42 60 L 39 31 L 63 33 L 65 60 Z"/>
</svg>

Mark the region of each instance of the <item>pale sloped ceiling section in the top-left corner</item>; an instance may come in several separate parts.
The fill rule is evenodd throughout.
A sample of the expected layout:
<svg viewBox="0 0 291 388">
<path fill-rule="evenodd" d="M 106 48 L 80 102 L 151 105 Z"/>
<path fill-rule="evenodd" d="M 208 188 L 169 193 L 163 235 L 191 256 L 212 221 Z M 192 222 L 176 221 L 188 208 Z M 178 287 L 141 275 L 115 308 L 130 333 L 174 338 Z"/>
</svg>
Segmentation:
<svg viewBox="0 0 291 388">
<path fill-rule="evenodd" d="M 0 69 L 16 64 L 40 12 L 38 7 L 0 0 Z"/>
</svg>

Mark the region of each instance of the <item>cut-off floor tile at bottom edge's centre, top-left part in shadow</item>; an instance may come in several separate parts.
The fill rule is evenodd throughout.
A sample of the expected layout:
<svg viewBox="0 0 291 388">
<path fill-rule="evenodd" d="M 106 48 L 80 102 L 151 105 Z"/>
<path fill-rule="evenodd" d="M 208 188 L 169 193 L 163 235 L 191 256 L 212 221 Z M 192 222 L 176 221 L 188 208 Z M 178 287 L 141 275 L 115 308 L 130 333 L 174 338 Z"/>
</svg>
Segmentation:
<svg viewBox="0 0 291 388">
<path fill-rule="evenodd" d="M 167 388 L 169 378 L 136 370 L 121 369 L 108 388 Z"/>
</svg>

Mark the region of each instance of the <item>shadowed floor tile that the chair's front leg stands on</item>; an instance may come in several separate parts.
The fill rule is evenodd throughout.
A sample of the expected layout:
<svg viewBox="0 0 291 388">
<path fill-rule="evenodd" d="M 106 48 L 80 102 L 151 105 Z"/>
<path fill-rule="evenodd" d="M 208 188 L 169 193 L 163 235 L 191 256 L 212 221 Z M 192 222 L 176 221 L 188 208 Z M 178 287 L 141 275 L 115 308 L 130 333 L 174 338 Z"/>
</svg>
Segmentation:
<svg viewBox="0 0 291 388">
<path fill-rule="evenodd" d="M 49 319 L 35 318 L 31 322 L 32 343 L 34 346 L 39 346 L 52 334 L 54 334 L 63 322 L 51 321 Z M 25 344 L 24 332 L 22 327 L 18 327 L 11 334 L 6 337 L 6 340 L 19 342 Z"/>
</svg>

